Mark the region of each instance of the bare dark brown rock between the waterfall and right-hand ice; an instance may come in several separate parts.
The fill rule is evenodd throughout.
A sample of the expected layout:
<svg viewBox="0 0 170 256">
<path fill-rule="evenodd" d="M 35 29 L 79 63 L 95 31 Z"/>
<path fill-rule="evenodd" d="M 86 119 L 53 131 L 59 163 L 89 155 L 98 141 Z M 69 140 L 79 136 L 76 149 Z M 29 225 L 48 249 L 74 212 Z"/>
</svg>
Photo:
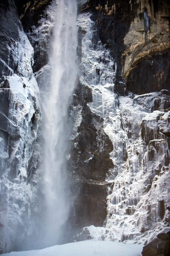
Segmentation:
<svg viewBox="0 0 170 256">
<path fill-rule="evenodd" d="M 75 95 L 71 108 L 78 104 L 83 106 L 83 121 L 78 128 L 79 135 L 72 140 L 68 161 L 70 173 L 74 171 L 72 193 L 76 195 L 70 223 L 74 229 L 81 230 L 84 226 L 102 226 L 106 218 L 107 185 L 104 181 L 108 170 L 113 167 L 109 157 L 113 146 L 103 131 L 103 119 L 87 107 L 87 103 L 92 101 L 91 90 L 78 83 Z M 94 124 L 99 128 L 96 129 Z"/>
</svg>

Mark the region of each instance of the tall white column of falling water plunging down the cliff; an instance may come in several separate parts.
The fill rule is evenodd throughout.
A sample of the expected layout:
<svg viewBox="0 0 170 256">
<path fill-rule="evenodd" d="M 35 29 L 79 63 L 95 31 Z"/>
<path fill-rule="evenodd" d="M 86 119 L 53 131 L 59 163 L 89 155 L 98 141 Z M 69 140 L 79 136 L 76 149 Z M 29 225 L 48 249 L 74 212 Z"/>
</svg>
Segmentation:
<svg viewBox="0 0 170 256">
<path fill-rule="evenodd" d="M 62 225 L 69 213 L 66 186 L 68 151 L 68 102 L 76 80 L 76 0 L 58 0 L 54 42 L 50 56 L 51 88 L 46 95 L 44 195 L 46 201 L 45 234 L 47 245 L 58 243 Z"/>
</svg>

